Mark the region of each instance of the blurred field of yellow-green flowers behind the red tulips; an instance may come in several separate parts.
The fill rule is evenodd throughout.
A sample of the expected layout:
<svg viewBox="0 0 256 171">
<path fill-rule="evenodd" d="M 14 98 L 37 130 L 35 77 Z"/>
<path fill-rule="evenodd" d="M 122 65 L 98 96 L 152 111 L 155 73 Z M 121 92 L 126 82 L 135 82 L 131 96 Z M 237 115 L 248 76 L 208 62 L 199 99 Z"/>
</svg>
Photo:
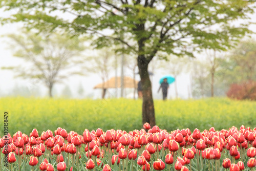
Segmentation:
<svg viewBox="0 0 256 171">
<path fill-rule="evenodd" d="M 8 131 L 29 134 L 36 128 L 41 134 L 57 127 L 82 134 L 84 129 L 103 131 L 141 129 L 141 100 L 133 99 L 37 99 L 22 97 L 0 98 L 1 124 L 4 111 L 9 112 Z M 196 127 L 200 130 L 214 126 L 216 130 L 256 126 L 256 102 L 226 98 L 200 100 L 155 100 L 157 125 L 172 131 Z M 4 134 L 3 128 L 0 135 Z"/>
</svg>

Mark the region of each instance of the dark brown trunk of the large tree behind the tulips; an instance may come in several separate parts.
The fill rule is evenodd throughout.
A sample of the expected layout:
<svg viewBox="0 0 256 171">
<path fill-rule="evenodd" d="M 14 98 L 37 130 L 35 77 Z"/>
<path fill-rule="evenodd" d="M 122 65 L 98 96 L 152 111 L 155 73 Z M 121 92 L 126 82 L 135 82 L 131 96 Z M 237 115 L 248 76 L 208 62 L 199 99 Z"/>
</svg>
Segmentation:
<svg viewBox="0 0 256 171">
<path fill-rule="evenodd" d="M 142 85 L 142 95 L 143 95 L 143 103 L 142 103 L 142 124 L 148 122 L 153 127 L 156 125 L 155 120 L 155 109 L 154 102 L 152 96 L 152 86 L 150 81 L 150 76 L 148 75 L 147 67 L 148 61 L 145 59 L 143 55 L 139 55 L 138 58 L 138 67 L 139 74 Z"/>
</svg>

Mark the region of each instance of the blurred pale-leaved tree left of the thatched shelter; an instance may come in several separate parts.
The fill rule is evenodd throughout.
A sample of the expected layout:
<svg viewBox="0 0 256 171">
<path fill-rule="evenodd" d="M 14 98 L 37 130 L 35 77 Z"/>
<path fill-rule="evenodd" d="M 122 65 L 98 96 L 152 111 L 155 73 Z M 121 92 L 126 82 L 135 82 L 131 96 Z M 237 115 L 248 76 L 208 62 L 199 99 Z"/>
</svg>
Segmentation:
<svg viewBox="0 0 256 171">
<path fill-rule="evenodd" d="M 12 34 L 9 37 L 14 42 L 11 46 L 14 56 L 26 60 L 28 65 L 4 69 L 12 69 L 17 77 L 42 81 L 50 97 L 53 96 L 55 83 L 70 75 L 81 74 L 80 71 L 70 70 L 82 61 L 78 55 L 83 50 L 83 41 L 77 37 L 60 34 L 45 36 L 32 32 Z"/>
</svg>

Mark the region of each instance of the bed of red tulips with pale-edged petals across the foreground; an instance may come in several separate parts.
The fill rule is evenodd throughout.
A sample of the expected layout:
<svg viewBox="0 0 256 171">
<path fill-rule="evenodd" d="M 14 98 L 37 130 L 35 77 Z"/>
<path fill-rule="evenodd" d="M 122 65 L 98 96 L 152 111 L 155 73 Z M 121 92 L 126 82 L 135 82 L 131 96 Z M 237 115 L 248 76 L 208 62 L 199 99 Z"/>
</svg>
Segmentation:
<svg viewBox="0 0 256 171">
<path fill-rule="evenodd" d="M 84 130 L 58 127 L 39 136 L 18 131 L 0 137 L 2 170 L 253 170 L 256 127 L 168 133 L 145 123 L 144 129 Z"/>
</svg>

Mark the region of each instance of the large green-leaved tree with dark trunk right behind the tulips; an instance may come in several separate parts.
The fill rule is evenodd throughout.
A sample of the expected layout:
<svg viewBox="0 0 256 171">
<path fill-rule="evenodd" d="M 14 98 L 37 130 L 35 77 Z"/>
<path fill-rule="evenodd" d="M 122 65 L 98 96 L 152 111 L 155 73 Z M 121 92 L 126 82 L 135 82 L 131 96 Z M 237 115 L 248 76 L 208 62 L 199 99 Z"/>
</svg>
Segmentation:
<svg viewBox="0 0 256 171">
<path fill-rule="evenodd" d="M 89 33 L 97 47 L 123 44 L 123 52 L 137 56 L 142 83 L 142 122 L 156 124 L 148 64 L 158 54 L 194 56 L 200 49 L 226 50 L 250 32 L 249 23 L 233 25 L 253 13 L 253 1 L 202 0 L 97 0 L 31 1 L 3 0 L 1 6 L 16 11 L 12 22 L 30 28 Z M 58 12 L 72 15 L 61 18 Z M 97 37 L 96 37 L 97 36 Z M 122 46 L 120 46 L 122 47 Z"/>
</svg>

